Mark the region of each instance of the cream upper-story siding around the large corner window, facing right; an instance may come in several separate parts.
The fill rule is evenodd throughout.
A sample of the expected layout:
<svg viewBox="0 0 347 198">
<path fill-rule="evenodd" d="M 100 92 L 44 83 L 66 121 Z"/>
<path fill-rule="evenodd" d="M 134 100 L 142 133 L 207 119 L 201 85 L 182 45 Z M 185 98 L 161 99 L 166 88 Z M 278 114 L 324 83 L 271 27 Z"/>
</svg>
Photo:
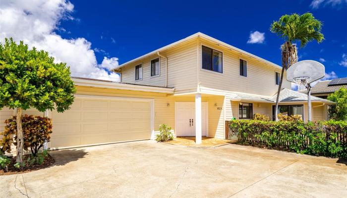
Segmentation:
<svg viewBox="0 0 347 198">
<path fill-rule="evenodd" d="M 201 40 L 198 45 L 199 54 L 201 45 L 223 52 L 223 74 L 203 70 L 199 64 L 200 85 L 217 90 L 226 90 L 232 92 L 243 92 L 263 96 L 273 96 L 278 91 L 275 83 L 275 71 L 281 73 L 280 68 L 266 65 L 254 58 L 244 56 L 230 49 L 216 46 L 215 44 Z M 199 57 L 201 58 L 201 57 Z M 247 77 L 239 75 L 239 58 L 247 61 Z M 290 89 L 290 82 L 286 80 L 282 88 Z"/>
</svg>

